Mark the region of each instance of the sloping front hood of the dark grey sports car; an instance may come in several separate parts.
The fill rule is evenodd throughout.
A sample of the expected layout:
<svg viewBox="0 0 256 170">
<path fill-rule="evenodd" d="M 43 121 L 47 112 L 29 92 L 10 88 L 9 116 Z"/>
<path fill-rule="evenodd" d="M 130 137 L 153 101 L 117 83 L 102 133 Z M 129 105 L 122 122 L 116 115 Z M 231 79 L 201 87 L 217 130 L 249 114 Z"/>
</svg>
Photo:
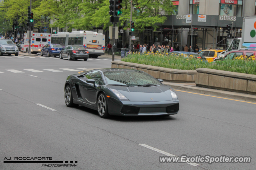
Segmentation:
<svg viewBox="0 0 256 170">
<path fill-rule="evenodd" d="M 170 86 L 107 86 L 116 89 L 132 102 L 158 102 L 172 100 Z"/>
</svg>

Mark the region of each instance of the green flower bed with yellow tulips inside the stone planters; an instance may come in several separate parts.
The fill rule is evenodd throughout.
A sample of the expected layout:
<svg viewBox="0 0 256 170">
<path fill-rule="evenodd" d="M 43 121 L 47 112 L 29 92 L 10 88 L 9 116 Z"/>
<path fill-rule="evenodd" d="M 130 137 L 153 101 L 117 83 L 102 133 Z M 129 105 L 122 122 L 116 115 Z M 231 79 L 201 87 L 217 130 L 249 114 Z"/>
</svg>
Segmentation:
<svg viewBox="0 0 256 170">
<path fill-rule="evenodd" d="M 255 56 L 239 56 L 235 59 L 226 59 L 208 63 L 200 58 L 193 58 L 187 55 L 160 54 L 160 53 L 130 53 L 121 61 L 130 63 L 146 64 L 173 68 L 178 70 L 196 70 L 196 68 L 211 68 L 216 70 L 240 72 L 246 74 L 256 74 Z"/>
</svg>

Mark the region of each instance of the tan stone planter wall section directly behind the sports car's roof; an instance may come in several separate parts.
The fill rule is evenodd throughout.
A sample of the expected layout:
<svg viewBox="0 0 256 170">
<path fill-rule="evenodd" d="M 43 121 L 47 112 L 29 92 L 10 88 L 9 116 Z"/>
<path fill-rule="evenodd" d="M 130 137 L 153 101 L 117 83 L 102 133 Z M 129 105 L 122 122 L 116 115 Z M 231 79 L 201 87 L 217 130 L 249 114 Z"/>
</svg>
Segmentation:
<svg viewBox="0 0 256 170">
<path fill-rule="evenodd" d="M 142 70 L 154 78 L 161 78 L 168 82 L 194 83 L 196 79 L 196 70 L 176 70 L 158 66 L 129 63 L 124 61 L 112 61 L 111 68 L 127 68 Z"/>
</svg>

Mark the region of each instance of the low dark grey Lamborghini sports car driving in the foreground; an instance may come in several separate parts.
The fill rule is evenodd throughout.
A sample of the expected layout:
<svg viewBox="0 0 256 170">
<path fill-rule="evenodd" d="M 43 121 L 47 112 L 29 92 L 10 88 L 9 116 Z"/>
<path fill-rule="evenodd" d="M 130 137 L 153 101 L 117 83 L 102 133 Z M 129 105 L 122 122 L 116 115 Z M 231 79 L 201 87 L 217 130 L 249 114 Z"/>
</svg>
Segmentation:
<svg viewBox="0 0 256 170">
<path fill-rule="evenodd" d="M 109 115 L 174 115 L 179 111 L 176 92 L 162 79 L 140 70 L 104 68 L 69 75 L 66 106 L 85 106 Z"/>
</svg>

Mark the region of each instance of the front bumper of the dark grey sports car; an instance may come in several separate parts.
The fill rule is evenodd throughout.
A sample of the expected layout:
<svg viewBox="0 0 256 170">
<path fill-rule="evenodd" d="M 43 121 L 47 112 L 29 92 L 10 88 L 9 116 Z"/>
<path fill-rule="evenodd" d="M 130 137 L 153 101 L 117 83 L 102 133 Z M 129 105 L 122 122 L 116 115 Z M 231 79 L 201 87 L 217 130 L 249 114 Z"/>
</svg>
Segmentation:
<svg viewBox="0 0 256 170">
<path fill-rule="evenodd" d="M 108 98 L 108 113 L 121 116 L 174 115 L 179 111 L 179 100 L 160 102 L 130 102 Z"/>
</svg>

